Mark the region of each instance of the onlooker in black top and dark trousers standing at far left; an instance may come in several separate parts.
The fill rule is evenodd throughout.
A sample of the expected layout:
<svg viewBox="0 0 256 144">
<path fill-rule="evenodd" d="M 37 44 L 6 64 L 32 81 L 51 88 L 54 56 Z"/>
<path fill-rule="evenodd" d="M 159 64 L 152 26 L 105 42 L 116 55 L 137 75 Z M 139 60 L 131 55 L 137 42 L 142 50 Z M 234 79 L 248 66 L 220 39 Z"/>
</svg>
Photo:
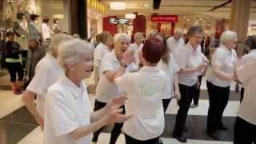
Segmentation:
<svg viewBox="0 0 256 144">
<path fill-rule="evenodd" d="M 11 87 L 14 94 L 22 94 L 22 80 L 24 71 L 22 70 L 21 47 L 18 42 L 14 42 L 14 32 L 8 31 L 6 33 L 7 42 L 5 50 L 6 68 L 10 74 Z M 18 81 L 17 81 L 18 74 Z"/>
</svg>

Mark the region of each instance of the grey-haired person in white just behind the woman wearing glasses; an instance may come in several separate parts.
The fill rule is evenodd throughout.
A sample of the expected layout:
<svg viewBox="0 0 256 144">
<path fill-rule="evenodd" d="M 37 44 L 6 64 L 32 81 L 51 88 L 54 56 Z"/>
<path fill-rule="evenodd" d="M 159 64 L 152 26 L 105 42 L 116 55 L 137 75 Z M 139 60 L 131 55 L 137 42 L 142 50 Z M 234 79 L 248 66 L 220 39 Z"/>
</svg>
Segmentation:
<svg viewBox="0 0 256 144">
<path fill-rule="evenodd" d="M 185 43 L 182 40 L 183 32 L 181 29 L 175 30 L 174 35 L 166 40 L 166 45 L 170 49 L 170 52 L 176 57 L 176 53 L 179 46 L 184 46 Z"/>
</svg>

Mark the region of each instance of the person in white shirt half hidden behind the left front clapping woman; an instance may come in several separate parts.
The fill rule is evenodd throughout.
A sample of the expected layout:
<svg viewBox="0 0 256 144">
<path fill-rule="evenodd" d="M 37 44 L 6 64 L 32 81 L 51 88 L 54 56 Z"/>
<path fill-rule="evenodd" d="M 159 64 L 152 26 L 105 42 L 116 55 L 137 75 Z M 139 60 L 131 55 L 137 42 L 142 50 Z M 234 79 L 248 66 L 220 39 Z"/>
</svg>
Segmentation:
<svg viewBox="0 0 256 144">
<path fill-rule="evenodd" d="M 50 51 L 42 58 L 35 69 L 34 78 L 27 86 L 22 101 L 26 108 L 34 116 L 38 124 L 43 128 L 44 124 L 44 100 L 48 88 L 57 81 L 63 74 L 62 68 L 58 65 L 58 46 L 62 42 L 72 39 L 67 34 L 56 34 L 50 43 Z M 34 98 L 37 98 L 37 105 L 34 106 Z"/>
</svg>

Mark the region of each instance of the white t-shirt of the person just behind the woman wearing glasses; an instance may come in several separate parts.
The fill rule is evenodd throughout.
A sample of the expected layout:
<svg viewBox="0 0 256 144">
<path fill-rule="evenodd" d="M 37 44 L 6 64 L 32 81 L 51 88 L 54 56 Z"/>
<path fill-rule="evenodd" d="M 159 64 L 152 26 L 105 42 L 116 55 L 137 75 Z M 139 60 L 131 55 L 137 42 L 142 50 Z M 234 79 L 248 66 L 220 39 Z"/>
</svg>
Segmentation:
<svg viewBox="0 0 256 144">
<path fill-rule="evenodd" d="M 184 46 L 185 43 L 180 38 L 178 41 L 174 37 L 170 37 L 166 40 L 167 46 L 170 48 L 171 53 L 174 55 L 174 58 L 177 57 L 177 51 L 180 46 Z"/>
</svg>

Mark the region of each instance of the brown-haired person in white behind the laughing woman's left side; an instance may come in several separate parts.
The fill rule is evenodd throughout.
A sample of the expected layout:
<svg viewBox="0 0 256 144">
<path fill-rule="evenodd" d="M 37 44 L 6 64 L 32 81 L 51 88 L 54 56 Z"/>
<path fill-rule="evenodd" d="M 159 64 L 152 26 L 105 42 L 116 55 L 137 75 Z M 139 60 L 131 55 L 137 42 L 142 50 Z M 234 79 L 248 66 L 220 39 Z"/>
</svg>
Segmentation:
<svg viewBox="0 0 256 144">
<path fill-rule="evenodd" d="M 94 83 L 97 85 L 99 75 L 99 68 L 102 64 L 102 58 L 110 52 L 110 46 L 113 44 L 113 37 L 108 31 L 103 31 L 100 34 L 100 43 L 94 50 Z"/>
</svg>

